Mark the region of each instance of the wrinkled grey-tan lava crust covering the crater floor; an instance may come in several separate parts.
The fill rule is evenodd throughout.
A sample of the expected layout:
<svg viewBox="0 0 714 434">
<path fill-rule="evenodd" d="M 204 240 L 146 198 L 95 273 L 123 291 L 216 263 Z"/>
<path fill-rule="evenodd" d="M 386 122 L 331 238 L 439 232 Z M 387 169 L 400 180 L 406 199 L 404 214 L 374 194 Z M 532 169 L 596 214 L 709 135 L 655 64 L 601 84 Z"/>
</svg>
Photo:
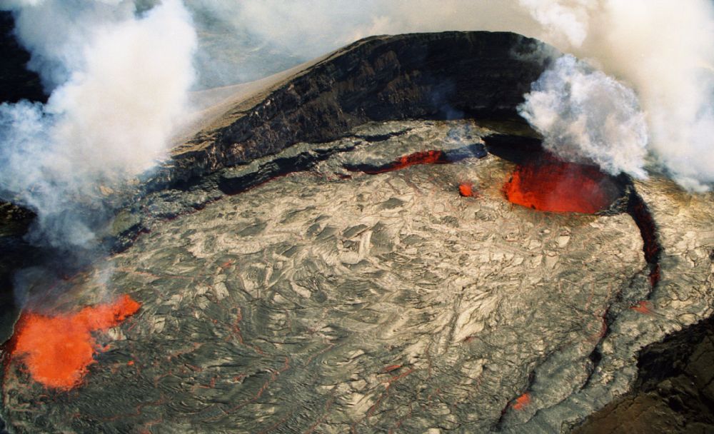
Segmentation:
<svg viewBox="0 0 714 434">
<path fill-rule="evenodd" d="M 46 390 L 11 358 L 6 418 L 21 433 L 570 429 L 628 390 L 638 349 L 710 314 L 711 201 L 669 211 L 682 192 L 636 183 L 662 229 L 653 290 L 627 213 L 506 201 L 514 166 L 483 152 L 493 132 L 368 124 L 226 169 L 224 184 L 323 156 L 157 220 L 66 282 L 57 309 L 124 295 L 141 309 L 97 335 L 109 346 L 72 390 Z M 357 170 L 464 149 L 449 164 Z"/>
</svg>

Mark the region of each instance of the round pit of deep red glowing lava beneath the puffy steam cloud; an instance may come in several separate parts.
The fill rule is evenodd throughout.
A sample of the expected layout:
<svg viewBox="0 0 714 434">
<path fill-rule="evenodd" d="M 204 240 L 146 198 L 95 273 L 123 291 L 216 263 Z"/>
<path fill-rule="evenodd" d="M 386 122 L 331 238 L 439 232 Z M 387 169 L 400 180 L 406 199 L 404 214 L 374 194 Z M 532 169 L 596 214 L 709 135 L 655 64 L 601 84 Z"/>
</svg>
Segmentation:
<svg viewBox="0 0 714 434">
<path fill-rule="evenodd" d="M 503 186 L 512 203 L 539 211 L 595 213 L 610 206 L 616 189 L 598 168 L 555 159 L 518 166 Z"/>
</svg>

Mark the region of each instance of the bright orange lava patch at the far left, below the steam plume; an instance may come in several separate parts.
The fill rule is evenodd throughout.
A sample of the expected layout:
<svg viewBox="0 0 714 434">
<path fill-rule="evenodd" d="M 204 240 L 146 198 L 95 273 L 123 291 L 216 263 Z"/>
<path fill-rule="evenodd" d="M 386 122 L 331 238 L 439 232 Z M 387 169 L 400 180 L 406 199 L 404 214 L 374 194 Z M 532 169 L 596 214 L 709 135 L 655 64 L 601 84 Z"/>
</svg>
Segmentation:
<svg viewBox="0 0 714 434">
<path fill-rule="evenodd" d="M 94 353 L 104 350 L 91 332 L 119 325 L 140 306 L 131 297 L 122 296 L 114 303 L 88 306 L 78 313 L 44 316 L 25 312 L 15 328 L 12 357 L 20 358 L 38 383 L 69 390 L 94 363 Z"/>
</svg>

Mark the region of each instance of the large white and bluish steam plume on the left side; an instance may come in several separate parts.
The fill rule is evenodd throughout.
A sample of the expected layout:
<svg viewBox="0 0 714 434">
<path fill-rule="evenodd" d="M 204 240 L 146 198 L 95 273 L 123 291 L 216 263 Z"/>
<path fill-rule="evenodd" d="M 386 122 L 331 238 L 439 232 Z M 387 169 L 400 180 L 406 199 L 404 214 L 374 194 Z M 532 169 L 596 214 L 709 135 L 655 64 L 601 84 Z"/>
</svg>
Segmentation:
<svg viewBox="0 0 714 434">
<path fill-rule="evenodd" d="M 14 11 L 29 66 L 51 96 L 46 105 L 0 105 L 0 194 L 36 211 L 39 243 L 88 247 L 96 215 L 79 208 L 96 208 L 101 186 L 150 168 L 185 114 L 191 16 L 178 0 L 143 16 L 131 1 L 2 7 Z"/>
</svg>

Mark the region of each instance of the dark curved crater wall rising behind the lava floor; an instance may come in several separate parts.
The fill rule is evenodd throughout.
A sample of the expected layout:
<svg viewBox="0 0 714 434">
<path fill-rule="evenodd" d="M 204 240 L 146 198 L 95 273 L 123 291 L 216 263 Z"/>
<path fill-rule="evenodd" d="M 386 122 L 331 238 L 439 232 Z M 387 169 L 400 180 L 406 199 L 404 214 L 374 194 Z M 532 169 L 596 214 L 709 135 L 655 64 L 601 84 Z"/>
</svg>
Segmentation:
<svg viewBox="0 0 714 434">
<path fill-rule="evenodd" d="M 516 118 L 543 71 L 534 39 L 504 32 L 445 32 L 363 39 L 238 104 L 235 120 L 174 152 L 150 189 L 186 182 L 293 143 L 331 141 L 368 121 Z"/>
</svg>

